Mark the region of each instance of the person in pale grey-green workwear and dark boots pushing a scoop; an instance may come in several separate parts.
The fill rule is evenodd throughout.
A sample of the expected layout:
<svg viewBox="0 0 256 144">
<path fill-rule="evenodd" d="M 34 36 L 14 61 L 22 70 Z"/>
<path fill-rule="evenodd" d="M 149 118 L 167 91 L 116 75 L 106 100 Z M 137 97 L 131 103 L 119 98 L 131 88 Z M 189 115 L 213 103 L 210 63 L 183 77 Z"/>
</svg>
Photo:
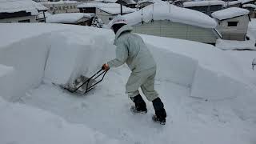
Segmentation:
<svg viewBox="0 0 256 144">
<path fill-rule="evenodd" d="M 132 34 L 132 27 L 127 25 L 125 18 L 121 15 L 115 17 L 110 23 L 110 28 L 114 31 L 116 47 L 116 58 L 103 64 L 105 70 L 111 67 L 122 66 L 126 62 L 132 73 L 126 83 L 126 94 L 134 102 L 135 106 L 131 110 L 135 113 L 146 113 L 146 102 L 139 94 L 141 87 L 147 100 L 153 102 L 155 115 L 153 120 L 165 124 L 166 110 L 158 93 L 154 90 L 154 78 L 156 75 L 156 62 L 150 51 L 146 47 L 142 38 L 137 34 Z"/>
</svg>

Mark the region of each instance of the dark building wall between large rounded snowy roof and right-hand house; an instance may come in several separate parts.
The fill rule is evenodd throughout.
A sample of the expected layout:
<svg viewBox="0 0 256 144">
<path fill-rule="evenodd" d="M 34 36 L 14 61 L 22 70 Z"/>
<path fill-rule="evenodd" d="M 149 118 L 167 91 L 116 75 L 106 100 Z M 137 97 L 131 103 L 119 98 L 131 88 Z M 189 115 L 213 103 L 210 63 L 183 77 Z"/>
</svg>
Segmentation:
<svg viewBox="0 0 256 144">
<path fill-rule="evenodd" d="M 216 6 L 193 6 L 193 7 L 186 7 L 187 9 L 191 10 L 198 10 L 201 11 L 204 14 L 211 15 L 213 12 L 222 10 L 221 5 L 216 5 Z"/>
</svg>

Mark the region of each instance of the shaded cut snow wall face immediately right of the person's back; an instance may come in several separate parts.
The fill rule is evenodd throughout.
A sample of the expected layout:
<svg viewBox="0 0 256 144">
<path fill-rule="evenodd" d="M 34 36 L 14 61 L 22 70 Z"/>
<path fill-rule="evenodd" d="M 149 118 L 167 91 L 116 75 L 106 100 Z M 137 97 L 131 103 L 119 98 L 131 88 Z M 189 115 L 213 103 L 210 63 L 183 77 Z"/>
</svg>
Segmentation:
<svg viewBox="0 0 256 144">
<path fill-rule="evenodd" d="M 198 66 L 198 61 L 182 54 L 175 54 L 171 51 L 163 50 L 148 45 L 154 59 L 157 62 L 157 78 L 163 81 L 170 81 L 182 86 L 190 87 L 194 73 Z"/>
</svg>

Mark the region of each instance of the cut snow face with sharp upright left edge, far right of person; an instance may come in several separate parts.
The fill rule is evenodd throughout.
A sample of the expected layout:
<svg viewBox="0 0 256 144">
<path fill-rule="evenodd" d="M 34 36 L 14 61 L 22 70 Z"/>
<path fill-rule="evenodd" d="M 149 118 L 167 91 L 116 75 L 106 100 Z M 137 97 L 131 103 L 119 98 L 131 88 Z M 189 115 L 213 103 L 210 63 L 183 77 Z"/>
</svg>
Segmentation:
<svg viewBox="0 0 256 144">
<path fill-rule="evenodd" d="M 190 96 L 207 99 L 234 98 L 241 95 L 245 89 L 246 86 L 234 78 L 198 66 Z"/>
</svg>

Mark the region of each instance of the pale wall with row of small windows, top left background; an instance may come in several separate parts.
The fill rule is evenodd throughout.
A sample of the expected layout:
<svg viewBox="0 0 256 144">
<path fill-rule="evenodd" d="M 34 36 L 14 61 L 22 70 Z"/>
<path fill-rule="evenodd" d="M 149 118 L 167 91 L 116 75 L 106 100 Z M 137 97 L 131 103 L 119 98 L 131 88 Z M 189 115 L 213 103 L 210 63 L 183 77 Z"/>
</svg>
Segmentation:
<svg viewBox="0 0 256 144">
<path fill-rule="evenodd" d="M 78 3 L 59 3 L 59 4 L 51 4 L 51 3 L 42 3 L 43 6 L 48 8 L 48 12 L 50 14 L 62 14 L 62 13 L 78 13 L 79 10 L 77 8 Z"/>
</svg>

